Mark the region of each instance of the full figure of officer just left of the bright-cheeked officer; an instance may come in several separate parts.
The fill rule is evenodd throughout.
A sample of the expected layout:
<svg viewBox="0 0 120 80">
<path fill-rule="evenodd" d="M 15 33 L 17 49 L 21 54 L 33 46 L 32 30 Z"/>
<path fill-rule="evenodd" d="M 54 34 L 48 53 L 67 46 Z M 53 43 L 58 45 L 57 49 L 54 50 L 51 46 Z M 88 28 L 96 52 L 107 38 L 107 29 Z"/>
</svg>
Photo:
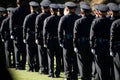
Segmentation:
<svg viewBox="0 0 120 80">
<path fill-rule="evenodd" d="M 60 76 L 61 68 L 61 53 L 62 50 L 58 42 L 58 23 L 60 17 L 57 15 L 58 5 L 50 4 L 51 16 L 46 18 L 43 26 L 43 41 L 44 46 L 47 47 L 48 53 L 48 66 L 49 75 L 48 77 Z M 56 57 L 56 71 L 54 72 L 54 55 Z"/>
</svg>

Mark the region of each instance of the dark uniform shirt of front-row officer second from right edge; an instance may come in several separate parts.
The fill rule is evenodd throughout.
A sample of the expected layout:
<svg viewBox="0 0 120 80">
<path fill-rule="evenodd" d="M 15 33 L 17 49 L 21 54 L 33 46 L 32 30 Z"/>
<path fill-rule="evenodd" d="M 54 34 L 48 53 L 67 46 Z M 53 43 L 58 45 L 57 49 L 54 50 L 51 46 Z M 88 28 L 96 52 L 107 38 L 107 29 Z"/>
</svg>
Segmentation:
<svg viewBox="0 0 120 80">
<path fill-rule="evenodd" d="M 110 27 L 111 21 L 105 16 L 96 18 L 92 25 L 90 31 L 90 43 L 91 47 L 94 48 L 96 41 L 99 39 L 110 40 Z"/>
</svg>

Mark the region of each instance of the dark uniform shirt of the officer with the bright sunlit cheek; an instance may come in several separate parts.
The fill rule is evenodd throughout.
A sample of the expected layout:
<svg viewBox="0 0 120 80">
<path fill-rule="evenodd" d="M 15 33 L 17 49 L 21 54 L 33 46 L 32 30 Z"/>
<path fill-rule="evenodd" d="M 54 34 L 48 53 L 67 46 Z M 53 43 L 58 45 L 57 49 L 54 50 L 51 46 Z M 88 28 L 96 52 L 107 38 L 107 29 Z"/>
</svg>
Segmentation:
<svg viewBox="0 0 120 80">
<path fill-rule="evenodd" d="M 73 28 L 75 20 L 77 20 L 79 16 L 75 13 L 69 13 L 68 15 L 65 15 L 61 17 L 58 27 L 58 37 L 60 44 L 63 44 L 64 47 L 66 42 L 73 39 Z M 64 42 L 63 42 L 64 41 Z M 73 41 L 70 41 L 71 46 L 73 45 Z"/>
</svg>

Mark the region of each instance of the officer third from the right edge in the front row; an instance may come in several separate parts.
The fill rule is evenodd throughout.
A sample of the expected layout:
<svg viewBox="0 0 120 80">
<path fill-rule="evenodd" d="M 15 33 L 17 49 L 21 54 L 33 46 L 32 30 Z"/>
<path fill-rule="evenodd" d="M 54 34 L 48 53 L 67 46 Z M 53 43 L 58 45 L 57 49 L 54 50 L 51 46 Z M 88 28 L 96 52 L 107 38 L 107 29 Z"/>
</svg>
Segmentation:
<svg viewBox="0 0 120 80">
<path fill-rule="evenodd" d="M 74 50 L 77 54 L 81 80 L 91 80 L 93 55 L 90 49 L 89 36 L 94 16 L 91 15 L 89 5 L 81 5 L 80 12 L 82 17 L 76 20 L 74 25 Z"/>
</svg>

